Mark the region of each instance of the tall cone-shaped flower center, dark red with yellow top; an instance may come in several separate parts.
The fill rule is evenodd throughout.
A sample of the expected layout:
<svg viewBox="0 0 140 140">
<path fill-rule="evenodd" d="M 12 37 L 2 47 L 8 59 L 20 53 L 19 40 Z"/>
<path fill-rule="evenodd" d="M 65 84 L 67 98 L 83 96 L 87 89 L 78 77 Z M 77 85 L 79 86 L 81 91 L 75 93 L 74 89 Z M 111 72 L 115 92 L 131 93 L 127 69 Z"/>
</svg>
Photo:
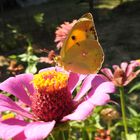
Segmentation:
<svg viewBox="0 0 140 140">
<path fill-rule="evenodd" d="M 73 110 L 68 75 L 54 70 L 41 72 L 33 78 L 36 93 L 31 97 L 32 111 L 43 121 L 60 121 Z"/>
</svg>

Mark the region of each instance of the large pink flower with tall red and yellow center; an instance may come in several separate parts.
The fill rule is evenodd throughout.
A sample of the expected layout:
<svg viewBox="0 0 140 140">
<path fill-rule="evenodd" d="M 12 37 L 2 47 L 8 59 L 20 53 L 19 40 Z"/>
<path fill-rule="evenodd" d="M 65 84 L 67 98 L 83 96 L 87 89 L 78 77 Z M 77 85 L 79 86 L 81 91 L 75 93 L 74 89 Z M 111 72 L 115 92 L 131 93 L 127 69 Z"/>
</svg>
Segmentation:
<svg viewBox="0 0 140 140">
<path fill-rule="evenodd" d="M 80 90 L 74 96 L 78 85 Z M 25 119 L 9 118 L 0 121 L 0 138 L 46 138 L 56 124 L 69 120 L 84 120 L 98 105 L 104 105 L 114 92 L 114 84 L 103 75 L 68 73 L 59 67 L 41 70 L 38 74 L 20 74 L 0 84 L 30 110 L 24 109 L 9 97 L 0 94 L 0 112 L 10 111 Z"/>
</svg>

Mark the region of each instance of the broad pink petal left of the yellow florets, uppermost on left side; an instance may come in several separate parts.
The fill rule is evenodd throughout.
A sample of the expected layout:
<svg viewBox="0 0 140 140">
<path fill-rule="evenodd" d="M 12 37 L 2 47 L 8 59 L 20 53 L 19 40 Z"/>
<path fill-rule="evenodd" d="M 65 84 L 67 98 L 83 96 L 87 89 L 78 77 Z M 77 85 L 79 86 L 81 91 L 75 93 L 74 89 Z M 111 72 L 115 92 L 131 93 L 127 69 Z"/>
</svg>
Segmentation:
<svg viewBox="0 0 140 140">
<path fill-rule="evenodd" d="M 33 94 L 33 86 L 31 84 L 32 74 L 21 74 L 11 77 L 0 84 L 0 89 L 9 92 L 19 98 L 27 105 L 31 105 L 31 101 L 27 93 Z"/>
</svg>

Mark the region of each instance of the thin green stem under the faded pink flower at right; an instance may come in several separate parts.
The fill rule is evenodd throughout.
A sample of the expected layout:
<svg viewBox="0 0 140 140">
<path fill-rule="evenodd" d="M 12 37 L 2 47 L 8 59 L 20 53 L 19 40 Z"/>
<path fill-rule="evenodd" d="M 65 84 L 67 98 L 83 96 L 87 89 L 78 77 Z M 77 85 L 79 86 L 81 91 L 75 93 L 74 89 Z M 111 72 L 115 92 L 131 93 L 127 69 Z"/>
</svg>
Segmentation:
<svg viewBox="0 0 140 140">
<path fill-rule="evenodd" d="M 120 90 L 120 100 L 121 100 L 121 110 L 122 110 L 124 132 L 125 132 L 125 137 L 127 139 L 128 128 L 127 128 L 126 113 L 125 113 L 124 87 L 119 87 L 119 90 Z"/>
</svg>

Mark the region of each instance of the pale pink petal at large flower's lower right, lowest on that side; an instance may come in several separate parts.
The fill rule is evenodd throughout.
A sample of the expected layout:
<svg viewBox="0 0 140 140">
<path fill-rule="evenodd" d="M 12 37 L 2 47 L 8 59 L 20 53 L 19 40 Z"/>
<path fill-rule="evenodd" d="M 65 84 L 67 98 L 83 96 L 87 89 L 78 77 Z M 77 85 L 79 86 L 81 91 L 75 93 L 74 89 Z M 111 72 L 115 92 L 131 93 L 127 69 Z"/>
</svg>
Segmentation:
<svg viewBox="0 0 140 140">
<path fill-rule="evenodd" d="M 89 101 L 82 102 L 76 110 L 65 116 L 62 121 L 67 120 L 85 120 L 93 111 L 94 105 Z"/>
</svg>

